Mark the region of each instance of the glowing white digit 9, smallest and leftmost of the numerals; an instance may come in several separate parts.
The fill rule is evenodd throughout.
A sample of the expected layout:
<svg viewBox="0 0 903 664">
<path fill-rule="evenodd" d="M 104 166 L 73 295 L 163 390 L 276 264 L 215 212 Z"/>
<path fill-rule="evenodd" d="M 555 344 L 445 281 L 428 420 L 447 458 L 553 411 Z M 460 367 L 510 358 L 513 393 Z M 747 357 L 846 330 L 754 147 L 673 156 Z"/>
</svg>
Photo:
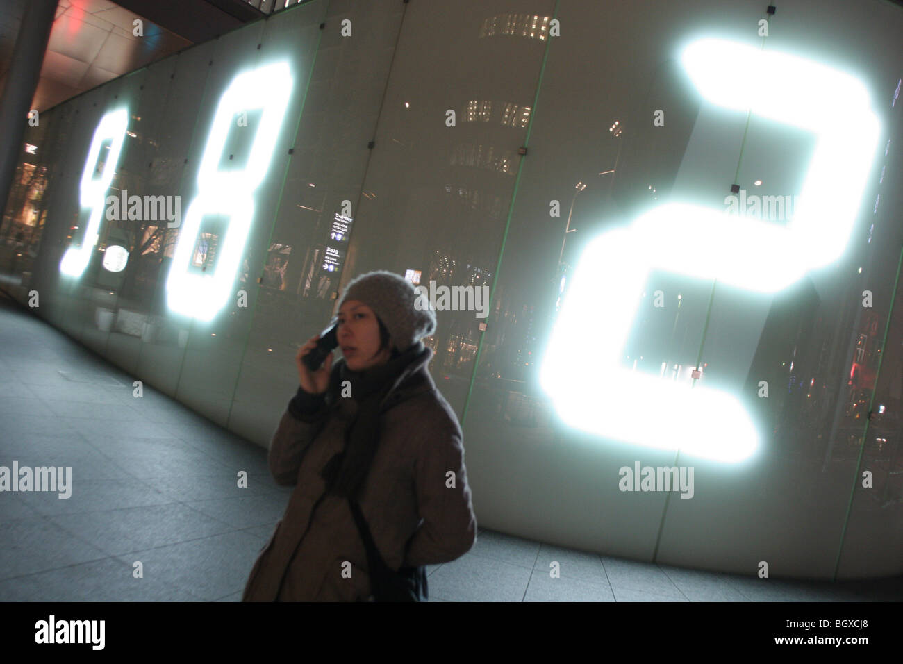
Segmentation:
<svg viewBox="0 0 903 664">
<path fill-rule="evenodd" d="M 98 127 L 94 130 L 91 139 L 91 148 L 88 150 L 88 159 L 85 160 L 85 168 L 81 172 L 81 187 L 79 203 L 82 208 L 91 208 L 88 216 L 88 227 L 85 229 L 81 247 L 66 249 L 60 261 L 60 271 L 64 275 L 81 276 L 88 267 L 91 259 L 91 250 L 98 243 L 100 237 L 100 222 L 104 214 L 104 205 L 107 201 L 107 189 L 113 181 L 113 173 L 119 164 L 119 154 L 122 152 L 123 142 L 126 140 L 128 128 L 128 109 L 117 108 L 110 111 L 100 119 Z M 94 171 L 98 163 L 100 147 L 107 139 L 112 141 L 103 173 L 98 179 L 94 179 Z"/>
</svg>

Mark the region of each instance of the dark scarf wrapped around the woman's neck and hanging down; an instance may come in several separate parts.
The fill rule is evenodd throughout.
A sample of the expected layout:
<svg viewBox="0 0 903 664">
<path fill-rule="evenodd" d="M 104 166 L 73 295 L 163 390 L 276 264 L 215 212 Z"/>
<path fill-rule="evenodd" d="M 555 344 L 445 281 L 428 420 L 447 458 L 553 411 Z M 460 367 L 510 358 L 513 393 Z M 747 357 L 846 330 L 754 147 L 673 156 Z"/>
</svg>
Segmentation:
<svg viewBox="0 0 903 664">
<path fill-rule="evenodd" d="M 386 364 L 366 371 L 352 371 L 344 361 L 341 362 L 338 380 L 332 381 L 330 386 L 330 405 L 334 407 L 339 399 L 352 399 L 358 412 L 345 431 L 345 449 L 333 456 L 321 471 L 327 491 L 358 500 L 379 445 L 380 403 L 407 366 L 429 352 L 422 341 L 417 341 Z M 341 396 L 341 384 L 345 380 L 351 383 L 350 397 Z"/>
</svg>

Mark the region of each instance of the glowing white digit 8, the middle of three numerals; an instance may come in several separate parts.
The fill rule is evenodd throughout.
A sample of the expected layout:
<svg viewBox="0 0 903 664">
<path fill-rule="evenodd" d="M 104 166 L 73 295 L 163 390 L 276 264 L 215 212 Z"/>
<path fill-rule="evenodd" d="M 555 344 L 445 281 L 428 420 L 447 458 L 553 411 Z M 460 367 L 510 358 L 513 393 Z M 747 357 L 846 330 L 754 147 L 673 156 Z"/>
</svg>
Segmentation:
<svg viewBox="0 0 903 664">
<path fill-rule="evenodd" d="M 245 71 L 232 79 L 219 98 L 207 145 L 198 169 L 198 194 L 188 211 L 166 281 L 167 303 L 173 311 L 209 321 L 226 304 L 238 261 L 254 220 L 253 193 L 263 182 L 292 94 L 292 73 L 285 62 Z M 219 162 L 235 116 L 262 108 L 247 164 L 241 170 L 220 171 Z M 213 274 L 191 274 L 189 265 L 205 216 L 228 218 L 226 237 L 219 243 Z"/>
</svg>

